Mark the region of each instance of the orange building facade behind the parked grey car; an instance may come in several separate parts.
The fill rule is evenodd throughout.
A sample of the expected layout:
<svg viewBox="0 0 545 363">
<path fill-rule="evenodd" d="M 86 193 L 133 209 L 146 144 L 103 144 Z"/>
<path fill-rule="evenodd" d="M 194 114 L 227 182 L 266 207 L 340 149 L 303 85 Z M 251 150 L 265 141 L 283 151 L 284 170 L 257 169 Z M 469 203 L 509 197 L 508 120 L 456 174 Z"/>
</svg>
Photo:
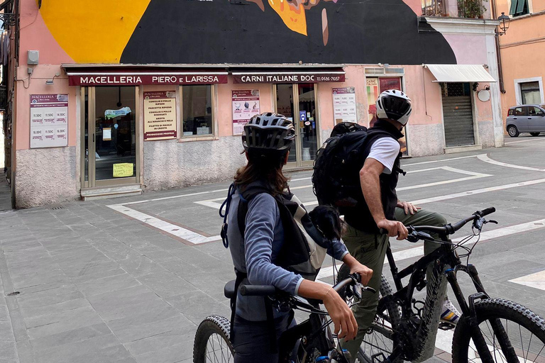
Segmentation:
<svg viewBox="0 0 545 363">
<path fill-rule="evenodd" d="M 496 6 L 497 13 L 511 17 L 507 33 L 500 36 L 505 123 L 512 106 L 545 104 L 545 0 L 497 0 Z"/>
</svg>

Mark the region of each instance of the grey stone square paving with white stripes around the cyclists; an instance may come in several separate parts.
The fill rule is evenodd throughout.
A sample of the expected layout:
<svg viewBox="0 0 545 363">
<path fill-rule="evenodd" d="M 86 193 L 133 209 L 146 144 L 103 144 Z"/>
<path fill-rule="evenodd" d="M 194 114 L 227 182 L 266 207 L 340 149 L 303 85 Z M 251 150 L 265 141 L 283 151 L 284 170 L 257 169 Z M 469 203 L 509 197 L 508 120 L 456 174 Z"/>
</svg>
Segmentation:
<svg viewBox="0 0 545 363">
<path fill-rule="evenodd" d="M 480 242 L 471 262 L 490 295 L 545 315 L 539 281 L 509 281 L 545 270 L 545 138 L 507 141 L 500 149 L 404 160 L 409 173 L 399 194 L 451 221 L 495 206 L 500 224 L 486 229 L 498 236 Z M 310 175 L 292 174 L 291 185 L 312 206 Z M 233 279 L 229 251 L 218 240 L 190 242 L 219 233 L 215 207 L 227 186 L 1 214 L 0 362 L 191 362 L 199 322 L 229 314 L 222 296 Z M 507 228 L 513 225 L 524 232 Z M 407 241 L 392 247 L 400 266 L 417 258 Z M 462 286 L 473 293 L 467 279 Z"/>
</svg>

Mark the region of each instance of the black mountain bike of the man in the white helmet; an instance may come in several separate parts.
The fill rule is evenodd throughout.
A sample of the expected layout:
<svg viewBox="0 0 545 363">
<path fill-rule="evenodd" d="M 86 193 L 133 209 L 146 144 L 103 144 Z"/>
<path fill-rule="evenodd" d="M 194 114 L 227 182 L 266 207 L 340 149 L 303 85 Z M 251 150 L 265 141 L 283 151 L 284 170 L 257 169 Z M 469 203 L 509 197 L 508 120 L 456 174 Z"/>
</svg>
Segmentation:
<svg viewBox="0 0 545 363">
<path fill-rule="evenodd" d="M 368 329 L 358 352 L 360 363 L 397 363 L 404 360 L 423 362 L 434 354 L 446 284 L 450 284 L 462 317 L 453 333 L 452 362 L 545 362 L 545 320 L 528 308 L 503 298 L 490 298 L 480 281 L 477 269 L 469 264 L 469 256 L 486 223 L 497 223 L 484 217 L 495 208 L 477 211 L 470 217 L 443 227 L 409 226 L 409 242 L 419 240 L 439 243 L 439 248 L 399 271 L 392 250 L 387 249 L 395 292 L 382 277 L 380 300 L 375 320 Z M 473 235 L 453 244 L 448 240 L 457 230 L 472 222 Z M 439 235 L 439 240 L 429 233 Z M 476 238 L 473 246 L 469 241 Z M 458 251 L 464 252 L 458 254 Z M 464 264 L 462 258 L 467 257 Z M 426 270 L 432 267 L 431 276 Z M 339 278 L 343 277 L 343 269 Z M 464 298 L 457 275 L 468 274 L 476 292 Z M 402 279 L 409 277 L 407 285 Z M 425 301 L 414 298 L 415 290 L 427 288 Z M 342 292 L 342 291 L 341 291 Z"/>
</svg>

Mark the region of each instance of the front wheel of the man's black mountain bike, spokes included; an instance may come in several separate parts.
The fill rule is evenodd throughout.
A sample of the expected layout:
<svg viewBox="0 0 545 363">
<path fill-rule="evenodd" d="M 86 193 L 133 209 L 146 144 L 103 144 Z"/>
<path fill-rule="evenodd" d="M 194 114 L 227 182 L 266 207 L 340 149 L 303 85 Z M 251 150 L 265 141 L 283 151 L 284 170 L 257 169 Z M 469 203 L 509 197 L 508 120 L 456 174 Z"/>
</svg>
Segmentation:
<svg viewBox="0 0 545 363">
<path fill-rule="evenodd" d="M 452 340 L 452 362 L 545 362 L 545 320 L 502 298 L 475 303 L 478 329 L 462 316 Z M 491 358 L 491 359 L 490 359 Z"/>
</svg>

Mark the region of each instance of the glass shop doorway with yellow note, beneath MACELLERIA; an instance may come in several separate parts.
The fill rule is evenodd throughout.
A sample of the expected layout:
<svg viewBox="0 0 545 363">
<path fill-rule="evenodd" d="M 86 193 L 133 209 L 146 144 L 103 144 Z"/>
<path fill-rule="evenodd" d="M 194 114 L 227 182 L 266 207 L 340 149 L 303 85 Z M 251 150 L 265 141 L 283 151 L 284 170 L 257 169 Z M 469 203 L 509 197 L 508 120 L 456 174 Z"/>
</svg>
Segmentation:
<svg viewBox="0 0 545 363">
<path fill-rule="evenodd" d="M 138 87 L 82 88 L 82 187 L 138 184 Z"/>
</svg>

